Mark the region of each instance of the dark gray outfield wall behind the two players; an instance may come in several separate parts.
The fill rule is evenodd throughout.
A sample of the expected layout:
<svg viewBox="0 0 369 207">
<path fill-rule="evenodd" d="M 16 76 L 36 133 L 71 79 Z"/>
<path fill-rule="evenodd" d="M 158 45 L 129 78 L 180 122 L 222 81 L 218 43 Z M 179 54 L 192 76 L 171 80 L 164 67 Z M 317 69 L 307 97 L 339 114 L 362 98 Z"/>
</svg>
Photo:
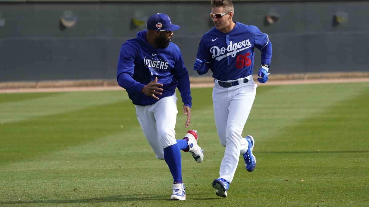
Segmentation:
<svg viewBox="0 0 369 207">
<path fill-rule="evenodd" d="M 271 73 L 369 71 L 369 1 L 234 1 L 234 20 L 256 25 L 273 44 Z M 77 17 L 62 28 L 65 10 Z M 134 38 L 154 13 L 181 26 L 180 46 L 191 76 L 201 36 L 213 25 L 208 2 L 0 3 L 0 82 L 114 79 L 120 45 Z M 334 14 L 348 21 L 334 25 Z M 265 24 L 265 15 L 279 20 Z M 255 70 L 260 53 L 256 51 Z M 206 74 L 211 76 L 211 73 Z"/>
</svg>

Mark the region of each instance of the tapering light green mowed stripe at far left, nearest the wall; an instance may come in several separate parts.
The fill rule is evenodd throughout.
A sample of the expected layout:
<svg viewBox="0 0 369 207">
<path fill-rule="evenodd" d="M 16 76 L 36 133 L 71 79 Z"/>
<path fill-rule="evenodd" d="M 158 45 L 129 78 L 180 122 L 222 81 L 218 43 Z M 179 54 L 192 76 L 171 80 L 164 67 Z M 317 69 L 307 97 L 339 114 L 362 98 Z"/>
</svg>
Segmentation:
<svg viewBox="0 0 369 207">
<path fill-rule="evenodd" d="M 0 94 L 0 123 L 9 123 L 128 100 L 127 92 L 84 91 Z"/>
</svg>

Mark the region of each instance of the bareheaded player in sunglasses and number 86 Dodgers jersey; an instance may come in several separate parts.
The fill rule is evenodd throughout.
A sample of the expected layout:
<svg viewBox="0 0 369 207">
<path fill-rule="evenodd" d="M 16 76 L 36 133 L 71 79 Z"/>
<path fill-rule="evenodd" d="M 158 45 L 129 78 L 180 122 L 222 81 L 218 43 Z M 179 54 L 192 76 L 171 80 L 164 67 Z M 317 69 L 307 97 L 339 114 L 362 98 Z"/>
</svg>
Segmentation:
<svg viewBox="0 0 369 207">
<path fill-rule="evenodd" d="M 246 170 L 256 166 L 252 154 L 254 138 L 242 137 L 242 130 L 255 99 L 257 85 L 253 81 L 254 48 L 261 51 L 258 81 L 268 80 L 272 57 L 272 43 L 268 35 L 252 25 L 232 20 L 231 0 L 211 0 L 211 14 L 215 25 L 200 41 L 194 70 L 203 75 L 213 72 L 213 105 L 215 124 L 220 143 L 225 147 L 219 178 L 213 181 L 216 195 L 227 196 L 227 190 L 236 171 L 239 155 L 243 155 Z"/>
</svg>

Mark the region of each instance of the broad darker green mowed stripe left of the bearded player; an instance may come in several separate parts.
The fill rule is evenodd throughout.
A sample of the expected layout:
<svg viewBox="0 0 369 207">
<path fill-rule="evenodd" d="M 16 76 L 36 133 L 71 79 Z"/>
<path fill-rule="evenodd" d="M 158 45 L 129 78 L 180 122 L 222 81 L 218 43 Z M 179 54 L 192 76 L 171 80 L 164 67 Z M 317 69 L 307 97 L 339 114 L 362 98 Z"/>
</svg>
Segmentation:
<svg viewBox="0 0 369 207">
<path fill-rule="evenodd" d="M 136 126 L 133 106 L 125 107 L 129 104 L 127 100 L 1 124 L 0 165 L 31 159 Z"/>
</svg>

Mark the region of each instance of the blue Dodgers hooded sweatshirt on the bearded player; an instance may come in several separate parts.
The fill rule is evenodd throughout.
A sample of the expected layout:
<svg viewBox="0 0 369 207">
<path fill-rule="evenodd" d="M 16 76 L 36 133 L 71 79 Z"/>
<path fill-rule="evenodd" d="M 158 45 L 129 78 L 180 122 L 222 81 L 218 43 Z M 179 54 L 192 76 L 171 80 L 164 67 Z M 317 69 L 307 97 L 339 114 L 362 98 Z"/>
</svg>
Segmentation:
<svg viewBox="0 0 369 207">
<path fill-rule="evenodd" d="M 146 32 L 123 43 L 120 49 L 117 81 L 135 105 L 151 105 L 158 101 L 142 93 L 142 88 L 158 77 L 163 84 L 159 99 L 171 96 L 178 88 L 184 105 L 192 106 L 190 80 L 179 47 L 170 42 L 167 48 L 155 49 L 146 39 Z"/>
</svg>

